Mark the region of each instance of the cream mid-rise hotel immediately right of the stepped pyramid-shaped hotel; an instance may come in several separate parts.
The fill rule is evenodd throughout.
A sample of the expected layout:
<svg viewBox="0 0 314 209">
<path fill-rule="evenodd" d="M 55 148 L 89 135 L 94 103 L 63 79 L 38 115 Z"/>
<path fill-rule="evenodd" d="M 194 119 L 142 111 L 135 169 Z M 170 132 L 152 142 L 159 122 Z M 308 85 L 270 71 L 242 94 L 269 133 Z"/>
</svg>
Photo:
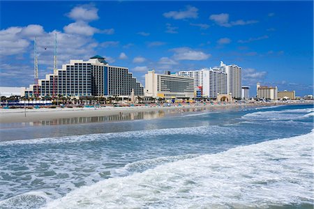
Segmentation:
<svg viewBox="0 0 314 209">
<path fill-rule="evenodd" d="M 145 96 L 153 98 L 188 99 L 194 97 L 194 79 L 177 74 L 165 72 L 158 74 L 155 70 L 149 70 L 145 74 Z"/>
</svg>

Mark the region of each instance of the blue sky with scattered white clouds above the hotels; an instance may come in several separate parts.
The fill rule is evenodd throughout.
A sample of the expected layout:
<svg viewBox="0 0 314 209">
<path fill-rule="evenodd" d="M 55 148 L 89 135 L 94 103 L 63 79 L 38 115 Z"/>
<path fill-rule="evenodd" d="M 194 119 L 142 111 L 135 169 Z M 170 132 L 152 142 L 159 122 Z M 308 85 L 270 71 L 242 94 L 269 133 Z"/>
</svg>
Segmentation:
<svg viewBox="0 0 314 209">
<path fill-rule="evenodd" d="M 144 74 L 242 67 L 243 85 L 313 93 L 313 1 L 1 1 L 1 86 L 33 83 L 33 37 L 39 77 L 99 54 Z M 46 48 L 46 49 L 45 49 Z"/>
</svg>

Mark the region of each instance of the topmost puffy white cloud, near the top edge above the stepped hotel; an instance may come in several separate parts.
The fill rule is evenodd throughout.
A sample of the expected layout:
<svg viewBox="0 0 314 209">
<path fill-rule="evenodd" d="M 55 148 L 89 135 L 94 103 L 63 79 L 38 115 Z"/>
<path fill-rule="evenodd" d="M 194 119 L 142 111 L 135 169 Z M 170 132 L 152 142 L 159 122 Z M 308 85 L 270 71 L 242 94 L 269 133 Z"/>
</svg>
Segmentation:
<svg viewBox="0 0 314 209">
<path fill-rule="evenodd" d="M 68 17 L 76 21 L 83 20 L 89 22 L 91 20 L 98 20 L 98 9 L 89 4 L 76 6 L 68 13 Z"/>
</svg>

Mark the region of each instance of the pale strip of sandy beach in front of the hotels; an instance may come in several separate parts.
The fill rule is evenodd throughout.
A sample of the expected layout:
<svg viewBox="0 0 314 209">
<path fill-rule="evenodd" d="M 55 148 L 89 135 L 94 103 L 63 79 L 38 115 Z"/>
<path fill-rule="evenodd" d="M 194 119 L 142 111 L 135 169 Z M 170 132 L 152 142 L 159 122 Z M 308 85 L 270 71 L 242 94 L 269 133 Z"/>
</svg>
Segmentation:
<svg viewBox="0 0 314 209">
<path fill-rule="evenodd" d="M 59 119 L 71 119 L 71 118 L 97 118 L 105 116 L 120 116 L 116 120 L 111 118 L 110 121 L 123 120 L 124 114 L 137 114 L 137 113 L 149 113 L 153 111 L 167 111 L 165 114 L 176 114 L 184 111 L 211 111 L 216 109 L 236 109 L 239 107 L 270 107 L 278 105 L 296 105 L 296 104 L 313 104 L 311 102 L 254 102 L 254 103 L 227 103 L 227 104 L 210 104 L 210 103 L 197 103 L 197 104 L 172 104 L 170 107 L 163 106 L 135 106 L 135 107 L 98 107 L 98 108 L 59 108 L 56 109 L 0 109 L 0 124 L 6 123 L 31 123 L 40 121 L 52 121 Z M 165 115 L 163 114 L 163 116 Z M 159 117 L 159 116 L 157 116 Z M 126 117 L 126 120 L 136 119 L 149 119 L 150 117 L 136 116 Z M 154 117 L 156 118 L 156 117 Z M 84 123 L 84 120 L 82 120 Z M 86 120 L 85 120 L 86 121 Z M 103 121 L 87 121 L 91 123 L 99 123 Z M 80 121 L 78 121 L 80 123 Z M 45 125 L 58 125 L 58 124 L 45 124 Z"/>
</svg>

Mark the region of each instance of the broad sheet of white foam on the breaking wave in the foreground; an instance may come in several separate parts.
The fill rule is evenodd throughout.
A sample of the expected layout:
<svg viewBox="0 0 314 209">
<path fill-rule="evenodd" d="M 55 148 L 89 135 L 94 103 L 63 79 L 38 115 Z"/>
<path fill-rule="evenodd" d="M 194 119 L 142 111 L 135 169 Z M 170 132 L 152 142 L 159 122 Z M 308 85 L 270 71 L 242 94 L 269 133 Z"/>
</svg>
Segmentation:
<svg viewBox="0 0 314 209">
<path fill-rule="evenodd" d="M 313 204 L 313 130 L 168 162 L 75 189 L 45 208 L 248 208 Z"/>
</svg>

